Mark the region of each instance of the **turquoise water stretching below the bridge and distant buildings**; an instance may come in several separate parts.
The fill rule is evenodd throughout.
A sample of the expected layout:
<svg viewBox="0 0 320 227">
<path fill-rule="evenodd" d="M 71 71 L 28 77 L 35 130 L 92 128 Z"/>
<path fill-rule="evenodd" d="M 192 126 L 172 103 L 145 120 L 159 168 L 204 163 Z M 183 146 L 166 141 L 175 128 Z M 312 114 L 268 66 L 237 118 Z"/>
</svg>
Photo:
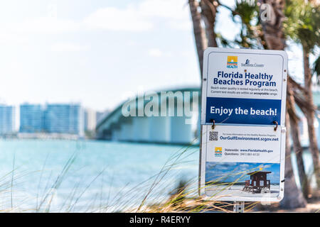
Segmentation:
<svg viewBox="0 0 320 227">
<path fill-rule="evenodd" d="M 181 157 L 169 160 L 183 150 Z M 198 176 L 198 148 L 174 145 L 0 140 L 0 162 L 0 209 L 16 211 L 129 209 L 139 205 L 153 182 L 151 202 L 165 199 L 179 179 Z"/>
</svg>

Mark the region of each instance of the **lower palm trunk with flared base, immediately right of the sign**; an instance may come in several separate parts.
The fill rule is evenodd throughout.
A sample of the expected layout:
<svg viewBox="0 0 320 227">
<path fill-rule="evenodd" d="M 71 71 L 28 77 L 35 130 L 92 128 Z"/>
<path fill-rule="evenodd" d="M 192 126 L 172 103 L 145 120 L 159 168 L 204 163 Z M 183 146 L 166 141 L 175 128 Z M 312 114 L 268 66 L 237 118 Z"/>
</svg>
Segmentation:
<svg viewBox="0 0 320 227">
<path fill-rule="evenodd" d="M 287 133 L 286 133 L 286 155 L 285 162 L 286 165 L 284 167 L 284 198 L 280 201 L 280 206 L 286 209 L 294 209 L 298 207 L 306 206 L 306 199 L 298 189 L 296 181 L 294 179 L 294 173 L 292 170 L 292 162 L 291 162 L 291 146 L 289 143 L 289 114 L 286 113 L 286 125 L 287 125 Z"/>
</svg>

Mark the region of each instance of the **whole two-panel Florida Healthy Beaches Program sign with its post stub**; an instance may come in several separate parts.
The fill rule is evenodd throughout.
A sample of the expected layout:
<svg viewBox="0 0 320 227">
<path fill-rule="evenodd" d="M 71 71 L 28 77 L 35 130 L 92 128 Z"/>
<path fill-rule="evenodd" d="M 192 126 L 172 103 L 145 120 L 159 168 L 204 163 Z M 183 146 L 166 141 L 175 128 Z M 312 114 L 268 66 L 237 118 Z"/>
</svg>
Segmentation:
<svg viewBox="0 0 320 227">
<path fill-rule="evenodd" d="M 201 196 L 235 201 L 237 211 L 243 201 L 283 198 L 286 92 L 284 51 L 204 52 Z"/>
</svg>

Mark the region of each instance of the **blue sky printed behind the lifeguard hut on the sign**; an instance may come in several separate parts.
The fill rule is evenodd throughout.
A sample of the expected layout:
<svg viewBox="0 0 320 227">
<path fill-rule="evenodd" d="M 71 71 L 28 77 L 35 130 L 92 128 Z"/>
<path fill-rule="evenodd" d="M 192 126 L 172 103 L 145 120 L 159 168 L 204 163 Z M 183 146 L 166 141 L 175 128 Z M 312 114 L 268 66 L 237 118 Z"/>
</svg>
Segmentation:
<svg viewBox="0 0 320 227">
<path fill-rule="evenodd" d="M 270 171 L 267 179 L 271 183 L 279 183 L 280 165 L 276 163 L 251 163 L 251 162 L 206 162 L 206 182 L 212 180 L 224 182 L 244 182 L 250 179 L 249 172 L 254 172 L 262 167 L 262 171 Z M 240 179 L 239 179 L 240 178 Z"/>
</svg>

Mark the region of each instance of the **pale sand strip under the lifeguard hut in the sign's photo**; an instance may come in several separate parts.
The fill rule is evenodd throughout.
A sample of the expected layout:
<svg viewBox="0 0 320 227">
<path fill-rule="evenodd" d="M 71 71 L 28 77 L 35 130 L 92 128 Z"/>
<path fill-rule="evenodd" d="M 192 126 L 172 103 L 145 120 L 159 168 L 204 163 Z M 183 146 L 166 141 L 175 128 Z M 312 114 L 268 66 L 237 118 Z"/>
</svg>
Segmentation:
<svg viewBox="0 0 320 227">
<path fill-rule="evenodd" d="M 234 185 L 231 187 L 225 186 L 215 186 L 215 187 L 208 187 L 206 188 L 206 194 L 208 196 L 241 196 L 241 197 L 261 197 L 261 196 L 270 196 L 270 197 L 277 197 L 279 194 L 279 185 L 272 185 L 270 188 L 270 193 L 255 193 L 252 192 L 243 192 L 242 185 Z M 217 194 L 218 193 L 218 194 Z"/>
</svg>

